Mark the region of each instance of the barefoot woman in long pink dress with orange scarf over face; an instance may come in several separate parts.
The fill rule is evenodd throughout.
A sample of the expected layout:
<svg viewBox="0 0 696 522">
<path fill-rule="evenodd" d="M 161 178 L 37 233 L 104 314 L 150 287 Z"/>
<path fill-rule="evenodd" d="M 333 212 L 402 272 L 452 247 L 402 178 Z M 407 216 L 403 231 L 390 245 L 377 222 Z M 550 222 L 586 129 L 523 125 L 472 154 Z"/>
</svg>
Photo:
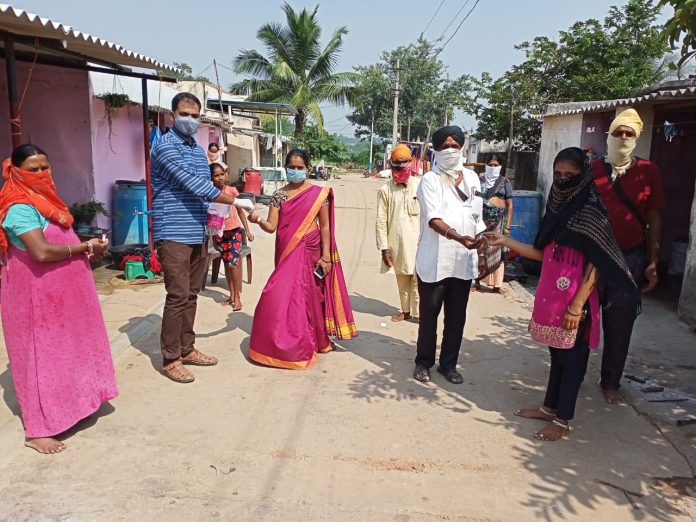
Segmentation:
<svg viewBox="0 0 696 522">
<path fill-rule="evenodd" d="M 89 266 L 107 242 L 75 235 L 40 148 L 16 148 L 3 177 L 0 311 L 12 382 L 25 445 L 59 453 L 57 435 L 118 395 Z"/>
</svg>

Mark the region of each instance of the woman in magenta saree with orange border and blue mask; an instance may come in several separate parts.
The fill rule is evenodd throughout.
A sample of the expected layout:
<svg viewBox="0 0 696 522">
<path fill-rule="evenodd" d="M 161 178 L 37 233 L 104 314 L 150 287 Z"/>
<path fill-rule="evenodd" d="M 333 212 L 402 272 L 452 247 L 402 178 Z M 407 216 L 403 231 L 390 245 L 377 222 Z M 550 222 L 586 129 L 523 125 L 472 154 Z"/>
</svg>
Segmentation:
<svg viewBox="0 0 696 522">
<path fill-rule="evenodd" d="M 331 351 L 329 336 L 350 339 L 357 330 L 336 248 L 333 191 L 307 182 L 304 150 L 291 150 L 285 168 L 289 183 L 273 194 L 268 219 L 249 218 L 277 232 L 276 267 L 256 306 L 249 358 L 303 370 L 317 352 Z"/>
</svg>

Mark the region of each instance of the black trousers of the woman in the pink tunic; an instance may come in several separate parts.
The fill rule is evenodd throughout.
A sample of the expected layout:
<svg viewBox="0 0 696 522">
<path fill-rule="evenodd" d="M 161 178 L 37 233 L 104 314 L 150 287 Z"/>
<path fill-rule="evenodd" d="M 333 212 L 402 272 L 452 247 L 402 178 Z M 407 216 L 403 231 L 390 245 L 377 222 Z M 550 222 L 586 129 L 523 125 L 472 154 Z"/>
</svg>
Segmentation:
<svg viewBox="0 0 696 522">
<path fill-rule="evenodd" d="M 586 333 L 589 333 L 589 319 L 578 329 L 578 338 L 572 348 L 549 346 L 551 370 L 544 406 L 556 410 L 556 417 L 562 420 L 571 420 L 575 416 L 575 404 L 590 357 L 590 343 Z"/>
</svg>

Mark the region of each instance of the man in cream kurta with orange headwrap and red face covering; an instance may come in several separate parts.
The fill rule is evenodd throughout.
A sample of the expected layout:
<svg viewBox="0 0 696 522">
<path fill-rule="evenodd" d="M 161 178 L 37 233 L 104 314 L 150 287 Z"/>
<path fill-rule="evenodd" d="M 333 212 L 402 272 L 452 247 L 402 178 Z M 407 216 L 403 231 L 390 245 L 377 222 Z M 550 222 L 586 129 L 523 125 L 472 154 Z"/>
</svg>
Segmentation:
<svg viewBox="0 0 696 522">
<path fill-rule="evenodd" d="M 416 250 L 420 235 L 417 178 L 411 177 L 411 151 L 398 145 L 391 155 L 392 179 L 377 196 L 377 248 L 382 253 L 382 271 L 396 274 L 401 313 L 392 321 L 418 320 Z"/>
</svg>

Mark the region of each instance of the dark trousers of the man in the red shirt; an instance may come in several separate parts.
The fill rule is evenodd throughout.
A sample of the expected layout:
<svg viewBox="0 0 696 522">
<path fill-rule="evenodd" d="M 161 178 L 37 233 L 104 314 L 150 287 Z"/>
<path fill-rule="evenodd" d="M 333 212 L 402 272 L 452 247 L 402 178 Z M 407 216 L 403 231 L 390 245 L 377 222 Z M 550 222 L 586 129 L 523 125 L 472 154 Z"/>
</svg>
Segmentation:
<svg viewBox="0 0 696 522">
<path fill-rule="evenodd" d="M 647 264 L 645 247 L 624 252 L 633 278 L 642 286 L 643 272 Z M 604 331 L 604 349 L 602 352 L 602 378 L 600 385 L 605 390 L 618 390 L 621 386 L 628 348 L 631 345 L 633 324 L 636 311 L 640 307 L 640 298 L 628 295 L 611 281 L 606 281 L 601 289 L 602 296 L 602 330 Z"/>
</svg>

